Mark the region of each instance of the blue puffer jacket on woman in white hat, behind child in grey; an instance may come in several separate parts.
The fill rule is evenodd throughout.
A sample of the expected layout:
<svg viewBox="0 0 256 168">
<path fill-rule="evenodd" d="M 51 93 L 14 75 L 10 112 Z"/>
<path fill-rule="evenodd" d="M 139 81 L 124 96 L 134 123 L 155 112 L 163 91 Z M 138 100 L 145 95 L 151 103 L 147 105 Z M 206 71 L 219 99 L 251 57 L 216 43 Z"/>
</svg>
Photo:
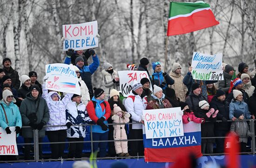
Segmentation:
<svg viewBox="0 0 256 168">
<path fill-rule="evenodd" d="M 247 103 L 244 101 L 235 101 L 234 99 L 229 104 L 229 119 L 231 120 L 234 117 L 235 110 L 243 111 L 243 116 L 245 119 L 251 119 L 251 114 L 249 112 L 249 108 Z"/>
</svg>

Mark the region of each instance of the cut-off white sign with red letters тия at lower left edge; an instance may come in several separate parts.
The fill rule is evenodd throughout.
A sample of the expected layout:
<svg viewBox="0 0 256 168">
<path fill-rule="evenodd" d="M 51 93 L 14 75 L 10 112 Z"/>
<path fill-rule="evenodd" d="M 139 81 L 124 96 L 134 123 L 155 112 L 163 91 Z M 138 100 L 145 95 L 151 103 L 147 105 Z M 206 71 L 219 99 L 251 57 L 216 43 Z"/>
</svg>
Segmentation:
<svg viewBox="0 0 256 168">
<path fill-rule="evenodd" d="M 16 144 L 15 127 L 10 127 L 11 134 L 0 127 L 0 155 L 19 155 Z"/>
</svg>

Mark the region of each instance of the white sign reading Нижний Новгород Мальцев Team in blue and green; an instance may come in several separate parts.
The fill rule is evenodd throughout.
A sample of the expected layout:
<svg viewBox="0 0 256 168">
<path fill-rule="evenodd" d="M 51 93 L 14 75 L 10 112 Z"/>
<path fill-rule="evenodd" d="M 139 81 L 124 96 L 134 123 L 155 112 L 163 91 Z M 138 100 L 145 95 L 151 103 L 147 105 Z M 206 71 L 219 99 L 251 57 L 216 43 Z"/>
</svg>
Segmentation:
<svg viewBox="0 0 256 168">
<path fill-rule="evenodd" d="M 193 79 L 223 80 L 222 53 L 209 55 L 194 52 L 191 66 Z"/>
</svg>

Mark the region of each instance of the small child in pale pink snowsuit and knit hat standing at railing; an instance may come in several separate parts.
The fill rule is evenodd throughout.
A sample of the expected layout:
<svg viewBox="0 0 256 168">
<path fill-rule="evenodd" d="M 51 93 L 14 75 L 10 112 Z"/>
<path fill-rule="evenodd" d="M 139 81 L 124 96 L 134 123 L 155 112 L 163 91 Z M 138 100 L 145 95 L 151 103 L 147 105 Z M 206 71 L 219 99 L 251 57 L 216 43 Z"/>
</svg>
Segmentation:
<svg viewBox="0 0 256 168">
<path fill-rule="evenodd" d="M 117 104 L 114 104 L 114 116 L 112 120 L 114 123 L 120 123 L 120 125 L 113 125 L 114 127 L 114 140 L 127 140 L 125 132 L 125 124 L 129 123 L 130 114 L 122 111 Z M 115 141 L 115 152 L 117 156 L 129 156 L 128 154 L 128 142 L 127 141 Z"/>
</svg>

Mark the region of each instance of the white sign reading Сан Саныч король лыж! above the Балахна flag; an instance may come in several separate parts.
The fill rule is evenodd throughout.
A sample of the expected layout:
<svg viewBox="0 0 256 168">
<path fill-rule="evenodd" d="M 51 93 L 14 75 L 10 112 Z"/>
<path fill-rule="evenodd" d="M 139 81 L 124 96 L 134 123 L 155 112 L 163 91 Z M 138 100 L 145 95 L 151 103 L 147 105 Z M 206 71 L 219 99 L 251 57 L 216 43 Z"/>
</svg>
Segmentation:
<svg viewBox="0 0 256 168">
<path fill-rule="evenodd" d="M 146 138 L 184 136 L 180 107 L 143 110 Z"/>
</svg>

